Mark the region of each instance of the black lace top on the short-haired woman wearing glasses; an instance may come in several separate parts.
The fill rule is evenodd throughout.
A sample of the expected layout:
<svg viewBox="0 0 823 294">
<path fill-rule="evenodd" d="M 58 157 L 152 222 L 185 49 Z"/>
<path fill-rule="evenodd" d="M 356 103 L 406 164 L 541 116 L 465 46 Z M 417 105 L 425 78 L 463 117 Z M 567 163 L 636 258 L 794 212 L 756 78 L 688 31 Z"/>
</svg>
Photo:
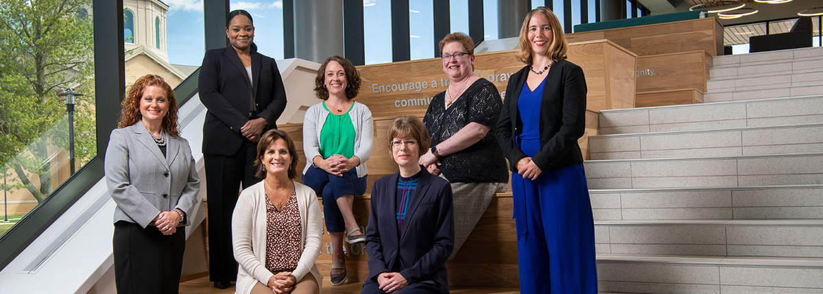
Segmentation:
<svg viewBox="0 0 823 294">
<path fill-rule="evenodd" d="M 446 109 L 446 92 L 436 94 L 425 111 L 423 123 L 429 129 L 431 145 L 449 139 L 463 126 L 477 122 L 491 127 L 480 141 L 457 153 L 440 158 L 440 172 L 450 182 L 506 182 L 509 171 L 500 145 L 495 139 L 495 125 L 503 100 L 489 80 L 480 79 L 470 85 Z"/>
</svg>

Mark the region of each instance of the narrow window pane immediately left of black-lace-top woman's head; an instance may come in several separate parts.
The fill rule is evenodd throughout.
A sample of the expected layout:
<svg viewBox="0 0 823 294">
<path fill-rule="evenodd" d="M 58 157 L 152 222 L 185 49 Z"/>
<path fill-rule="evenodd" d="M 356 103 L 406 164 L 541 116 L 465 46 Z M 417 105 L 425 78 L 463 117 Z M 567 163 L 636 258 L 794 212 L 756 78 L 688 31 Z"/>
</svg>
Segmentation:
<svg viewBox="0 0 823 294">
<path fill-rule="evenodd" d="M 409 1 L 409 56 L 412 60 L 435 57 L 434 3 Z"/>
</svg>

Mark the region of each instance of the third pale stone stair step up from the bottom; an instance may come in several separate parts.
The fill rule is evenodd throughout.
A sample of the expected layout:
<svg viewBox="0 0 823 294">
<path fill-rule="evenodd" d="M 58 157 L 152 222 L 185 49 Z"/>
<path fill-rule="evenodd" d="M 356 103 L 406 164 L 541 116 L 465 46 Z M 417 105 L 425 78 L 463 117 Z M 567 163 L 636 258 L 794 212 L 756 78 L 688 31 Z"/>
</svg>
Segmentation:
<svg viewBox="0 0 823 294">
<path fill-rule="evenodd" d="M 816 219 L 823 185 L 589 190 L 594 220 Z"/>
</svg>

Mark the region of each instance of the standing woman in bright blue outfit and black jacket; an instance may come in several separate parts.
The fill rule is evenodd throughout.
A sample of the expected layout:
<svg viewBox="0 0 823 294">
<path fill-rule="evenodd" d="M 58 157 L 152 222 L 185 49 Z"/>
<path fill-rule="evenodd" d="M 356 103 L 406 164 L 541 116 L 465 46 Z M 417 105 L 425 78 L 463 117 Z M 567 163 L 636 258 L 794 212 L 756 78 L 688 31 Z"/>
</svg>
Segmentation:
<svg viewBox="0 0 823 294">
<path fill-rule="evenodd" d="M 495 130 L 512 171 L 520 292 L 596 293 L 592 204 L 577 140 L 583 136 L 586 80 L 565 60 L 560 21 L 529 11 Z"/>
</svg>

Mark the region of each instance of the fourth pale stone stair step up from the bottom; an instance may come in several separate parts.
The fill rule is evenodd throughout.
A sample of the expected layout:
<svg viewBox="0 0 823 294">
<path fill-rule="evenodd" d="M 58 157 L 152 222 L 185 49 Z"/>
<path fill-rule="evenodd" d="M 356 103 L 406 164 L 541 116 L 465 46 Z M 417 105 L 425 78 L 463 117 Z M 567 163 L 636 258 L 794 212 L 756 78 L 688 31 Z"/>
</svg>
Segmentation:
<svg viewBox="0 0 823 294">
<path fill-rule="evenodd" d="M 823 154 L 589 160 L 591 189 L 823 184 Z"/>
</svg>

